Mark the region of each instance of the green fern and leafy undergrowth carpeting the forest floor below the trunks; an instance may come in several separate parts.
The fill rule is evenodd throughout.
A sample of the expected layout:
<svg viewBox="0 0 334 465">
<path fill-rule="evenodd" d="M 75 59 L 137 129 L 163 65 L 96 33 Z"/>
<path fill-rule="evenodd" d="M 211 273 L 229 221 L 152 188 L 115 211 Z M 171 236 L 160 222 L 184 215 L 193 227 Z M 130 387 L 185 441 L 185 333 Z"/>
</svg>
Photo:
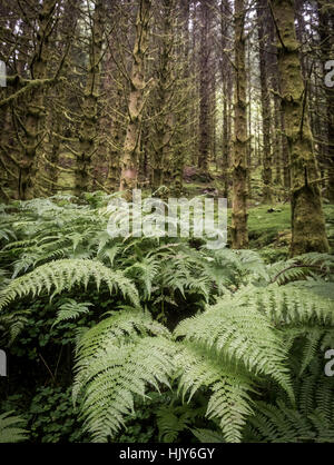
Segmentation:
<svg viewBox="0 0 334 465">
<path fill-rule="evenodd" d="M 1 206 L 0 442 L 333 442 L 333 255 L 287 258 L 284 205 L 259 251 L 111 238 L 111 197 Z"/>
</svg>

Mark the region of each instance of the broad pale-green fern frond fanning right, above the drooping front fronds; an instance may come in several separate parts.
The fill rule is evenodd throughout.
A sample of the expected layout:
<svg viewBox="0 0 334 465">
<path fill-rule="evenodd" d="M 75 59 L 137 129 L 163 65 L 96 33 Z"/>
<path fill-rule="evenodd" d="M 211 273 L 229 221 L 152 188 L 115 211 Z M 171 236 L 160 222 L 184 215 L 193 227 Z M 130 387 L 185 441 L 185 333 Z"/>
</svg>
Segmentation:
<svg viewBox="0 0 334 465">
<path fill-rule="evenodd" d="M 214 348 L 222 360 L 240 364 L 253 373 L 274 378 L 293 398 L 282 339 L 256 301 L 243 305 L 237 297 L 219 300 L 198 316 L 183 320 L 175 336 Z"/>
</svg>

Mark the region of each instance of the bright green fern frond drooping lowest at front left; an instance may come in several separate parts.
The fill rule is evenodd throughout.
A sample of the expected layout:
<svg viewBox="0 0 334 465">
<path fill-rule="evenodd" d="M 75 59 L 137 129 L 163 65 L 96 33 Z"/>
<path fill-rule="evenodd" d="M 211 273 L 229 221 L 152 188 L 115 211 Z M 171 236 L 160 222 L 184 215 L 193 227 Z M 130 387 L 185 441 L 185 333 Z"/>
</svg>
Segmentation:
<svg viewBox="0 0 334 465">
<path fill-rule="evenodd" d="M 130 317 L 129 311 L 127 316 Z M 97 325 L 79 343 L 73 397 L 77 399 L 84 393 L 85 425 L 95 442 L 106 442 L 124 425 L 125 416 L 134 410 L 135 395 L 145 397 L 146 389 L 151 386 L 158 390 L 161 384 L 169 387 L 175 344 L 159 336 L 166 329 L 148 315 L 139 321 L 139 311 L 132 311 L 128 324 L 125 318 L 111 316 L 99 324 L 105 337 L 95 340 Z M 114 336 L 112 328 L 116 328 Z M 117 337 L 136 328 L 144 333 L 157 329 L 157 335 L 130 339 Z"/>
</svg>

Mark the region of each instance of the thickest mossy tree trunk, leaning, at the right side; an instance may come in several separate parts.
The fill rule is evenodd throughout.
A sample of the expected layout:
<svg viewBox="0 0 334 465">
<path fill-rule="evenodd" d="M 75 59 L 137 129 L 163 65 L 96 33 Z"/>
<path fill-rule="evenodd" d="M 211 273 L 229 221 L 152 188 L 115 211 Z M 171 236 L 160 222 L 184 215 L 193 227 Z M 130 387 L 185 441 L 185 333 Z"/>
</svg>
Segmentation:
<svg viewBox="0 0 334 465">
<path fill-rule="evenodd" d="M 291 157 L 291 255 L 326 253 L 328 243 L 318 170 L 307 120 L 305 88 L 294 24 L 294 2 L 274 0 L 271 4 L 278 39 L 282 109 Z"/>
</svg>

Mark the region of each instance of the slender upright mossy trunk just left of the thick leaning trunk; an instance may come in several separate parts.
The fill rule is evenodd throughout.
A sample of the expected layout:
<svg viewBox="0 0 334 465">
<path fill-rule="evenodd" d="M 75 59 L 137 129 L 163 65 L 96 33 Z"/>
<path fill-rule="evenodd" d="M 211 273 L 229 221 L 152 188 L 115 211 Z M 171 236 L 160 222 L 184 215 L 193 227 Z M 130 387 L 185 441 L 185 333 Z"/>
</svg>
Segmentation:
<svg viewBox="0 0 334 465">
<path fill-rule="evenodd" d="M 235 1 L 235 86 L 234 86 L 234 150 L 233 150 L 233 205 L 232 247 L 248 247 L 247 230 L 247 105 L 245 55 L 245 4 Z"/>
</svg>

